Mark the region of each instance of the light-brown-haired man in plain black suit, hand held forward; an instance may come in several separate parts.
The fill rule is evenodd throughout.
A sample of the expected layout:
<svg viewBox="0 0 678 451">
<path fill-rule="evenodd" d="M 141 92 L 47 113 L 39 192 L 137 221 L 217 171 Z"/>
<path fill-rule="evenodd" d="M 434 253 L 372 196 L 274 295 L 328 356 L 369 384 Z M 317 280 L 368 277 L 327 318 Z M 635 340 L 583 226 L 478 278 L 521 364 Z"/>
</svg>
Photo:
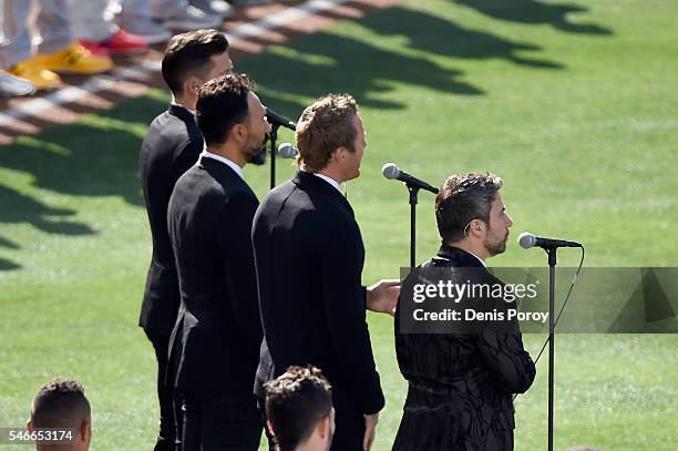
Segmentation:
<svg viewBox="0 0 678 451">
<path fill-rule="evenodd" d="M 255 392 L 291 365 L 332 385 L 335 450 L 368 450 L 384 399 L 366 307 L 393 311 L 398 281 L 361 285 L 364 248 L 339 184 L 360 175 L 367 146 L 356 101 L 330 94 L 297 125 L 300 171 L 264 199 L 253 226 L 265 342 Z"/>
</svg>

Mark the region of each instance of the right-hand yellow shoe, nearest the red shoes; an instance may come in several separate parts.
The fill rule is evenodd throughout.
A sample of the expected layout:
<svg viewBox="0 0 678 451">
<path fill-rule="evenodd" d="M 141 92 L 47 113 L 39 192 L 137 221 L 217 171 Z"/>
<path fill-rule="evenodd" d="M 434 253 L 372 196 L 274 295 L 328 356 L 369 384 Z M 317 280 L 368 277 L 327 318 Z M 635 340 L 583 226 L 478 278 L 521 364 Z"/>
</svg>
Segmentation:
<svg viewBox="0 0 678 451">
<path fill-rule="evenodd" d="M 51 71 L 83 75 L 102 73 L 113 68 L 110 57 L 92 54 L 78 42 L 71 42 L 69 47 L 55 53 L 38 54 L 35 61 Z"/>
</svg>

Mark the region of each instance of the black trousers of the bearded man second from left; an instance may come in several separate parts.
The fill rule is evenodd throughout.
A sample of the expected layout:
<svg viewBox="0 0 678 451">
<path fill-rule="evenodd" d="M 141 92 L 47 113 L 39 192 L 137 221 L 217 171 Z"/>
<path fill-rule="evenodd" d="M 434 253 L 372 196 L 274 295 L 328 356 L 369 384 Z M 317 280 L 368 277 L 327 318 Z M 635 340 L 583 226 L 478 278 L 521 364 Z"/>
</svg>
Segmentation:
<svg viewBox="0 0 678 451">
<path fill-rule="evenodd" d="M 184 400 L 183 451 L 257 451 L 261 416 L 254 394 Z"/>
</svg>

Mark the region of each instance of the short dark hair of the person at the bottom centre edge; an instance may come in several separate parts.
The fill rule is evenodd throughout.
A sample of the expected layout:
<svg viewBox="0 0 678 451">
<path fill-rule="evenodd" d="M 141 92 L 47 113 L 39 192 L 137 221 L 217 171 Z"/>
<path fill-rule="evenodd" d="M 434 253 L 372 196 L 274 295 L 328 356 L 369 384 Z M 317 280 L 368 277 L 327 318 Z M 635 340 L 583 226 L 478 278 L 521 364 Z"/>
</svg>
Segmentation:
<svg viewBox="0 0 678 451">
<path fill-rule="evenodd" d="M 306 442 L 318 421 L 332 411 L 332 387 L 314 366 L 292 366 L 266 382 L 266 417 L 280 451 Z"/>
</svg>

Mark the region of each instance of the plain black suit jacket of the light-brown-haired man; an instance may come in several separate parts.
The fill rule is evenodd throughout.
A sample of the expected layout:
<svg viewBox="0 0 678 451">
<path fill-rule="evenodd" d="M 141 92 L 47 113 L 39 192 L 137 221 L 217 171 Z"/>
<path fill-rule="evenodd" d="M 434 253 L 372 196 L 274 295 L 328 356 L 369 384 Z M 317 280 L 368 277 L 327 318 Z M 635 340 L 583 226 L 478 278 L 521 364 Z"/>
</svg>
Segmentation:
<svg viewBox="0 0 678 451">
<path fill-rule="evenodd" d="M 257 209 L 253 243 L 265 330 L 257 396 L 288 366 L 312 363 L 332 385 L 338 412 L 381 410 L 361 286 L 364 248 L 348 201 L 299 172 Z"/>
</svg>

